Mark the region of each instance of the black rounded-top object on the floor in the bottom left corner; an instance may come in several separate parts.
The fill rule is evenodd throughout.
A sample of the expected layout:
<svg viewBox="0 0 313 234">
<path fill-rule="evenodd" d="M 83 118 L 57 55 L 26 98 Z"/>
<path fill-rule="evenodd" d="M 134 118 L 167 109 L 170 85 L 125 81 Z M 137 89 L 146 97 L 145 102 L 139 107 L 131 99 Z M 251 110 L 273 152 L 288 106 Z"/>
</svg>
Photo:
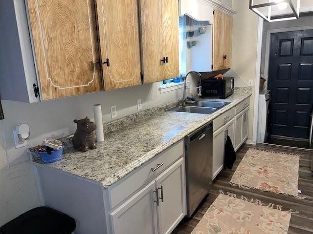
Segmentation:
<svg viewBox="0 0 313 234">
<path fill-rule="evenodd" d="M 0 234 L 71 234 L 75 220 L 49 207 L 37 207 L 0 228 Z"/>
</svg>

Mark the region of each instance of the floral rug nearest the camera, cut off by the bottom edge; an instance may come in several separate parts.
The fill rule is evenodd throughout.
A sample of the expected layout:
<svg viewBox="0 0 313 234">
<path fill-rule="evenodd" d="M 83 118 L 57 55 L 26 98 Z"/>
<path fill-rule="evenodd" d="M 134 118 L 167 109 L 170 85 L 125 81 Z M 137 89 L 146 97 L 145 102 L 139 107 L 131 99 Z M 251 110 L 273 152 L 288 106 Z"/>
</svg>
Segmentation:
<svg viewBox="0 0 313 234">
<path fill-rule="evenodd" d="M 291 211 L 220 194 L 192 234 L 287 234 Z"/>
</svg>

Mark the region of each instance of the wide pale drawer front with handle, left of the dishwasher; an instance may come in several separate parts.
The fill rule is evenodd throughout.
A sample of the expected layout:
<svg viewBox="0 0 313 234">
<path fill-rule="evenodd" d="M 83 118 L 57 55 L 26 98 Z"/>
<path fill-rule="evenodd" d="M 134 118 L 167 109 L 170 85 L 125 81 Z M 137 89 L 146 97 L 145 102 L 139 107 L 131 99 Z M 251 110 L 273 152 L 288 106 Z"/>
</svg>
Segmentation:
<svg viewBox="0 0 313 234">
<path fill-rule="evenodd" d="M 160 172 L 164 171 L 181 156 L 183 156 L 182 140 L 152 158 L 116 184 L 110 186 L 108 188 L 110 209 L 132 195 L 140 187 L 155 179 Z M 159 167 L 153 171 L 152 169 L 155 169 L 157 166 Z"/>
</svg>

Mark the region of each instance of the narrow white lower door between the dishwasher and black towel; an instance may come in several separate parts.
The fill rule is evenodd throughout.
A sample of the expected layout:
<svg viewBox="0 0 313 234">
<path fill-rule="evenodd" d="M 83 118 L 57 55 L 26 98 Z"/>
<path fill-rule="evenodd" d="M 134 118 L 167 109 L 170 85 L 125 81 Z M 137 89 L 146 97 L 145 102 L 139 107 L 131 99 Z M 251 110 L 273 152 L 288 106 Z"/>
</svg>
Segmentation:
<svg viewBox="0 0 313 234">
<path fill-rule="evenodd" d="M 222 171 L 224 165 L 225 128 L 213 133 L 213 179 Z"/>
</svg>

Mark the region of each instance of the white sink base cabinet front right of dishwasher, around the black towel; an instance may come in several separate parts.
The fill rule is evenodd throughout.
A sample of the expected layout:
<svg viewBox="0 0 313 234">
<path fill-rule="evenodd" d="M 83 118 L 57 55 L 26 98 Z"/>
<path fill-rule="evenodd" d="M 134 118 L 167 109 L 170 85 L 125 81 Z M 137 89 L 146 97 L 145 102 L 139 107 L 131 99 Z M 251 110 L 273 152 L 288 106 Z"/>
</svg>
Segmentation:
<svg viewBox="0 0 313 234">
<path fill-rule="evenodd" d="M 213 133 L 213 179 L 223 170 L 224 148 L 226 137 L 230 137 L 234 142 L 234 119 L 232 118 L 223 127 Z"/>
</svg>

